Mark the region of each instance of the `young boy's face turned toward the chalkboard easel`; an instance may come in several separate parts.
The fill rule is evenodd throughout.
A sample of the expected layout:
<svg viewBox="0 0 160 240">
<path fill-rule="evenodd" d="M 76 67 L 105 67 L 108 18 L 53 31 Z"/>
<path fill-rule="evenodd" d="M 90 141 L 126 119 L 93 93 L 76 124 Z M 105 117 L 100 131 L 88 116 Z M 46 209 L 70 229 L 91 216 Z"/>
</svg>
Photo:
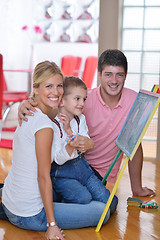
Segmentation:
<svg viewBox="0 0 160 240">
<path fill-rule="evenodd" d="M 62 99 L 64 113 L 66 113 L 71 119 L 74 115 L 81 115 L 84 110 L 86 99 L 86 89 L 80 86 L 72 87 L 69 93 Z"/>
</svg>

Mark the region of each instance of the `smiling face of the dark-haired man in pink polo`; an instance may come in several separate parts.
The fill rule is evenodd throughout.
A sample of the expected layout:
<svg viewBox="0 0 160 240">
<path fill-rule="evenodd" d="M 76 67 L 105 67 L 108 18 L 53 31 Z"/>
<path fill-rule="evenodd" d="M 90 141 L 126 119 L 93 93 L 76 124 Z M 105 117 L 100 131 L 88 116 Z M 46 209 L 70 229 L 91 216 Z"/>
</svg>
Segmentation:
<svg viewBox="0 0 160 240">
<path fill-rule="evenodd" d="M 119 101 L 122 93 L 122 89 L 126 79 L 126 73 L 121 66 L 104 66 L 102 73 L 99 73 L 101 81 L 101 96 L 103 100 Z"/>
</svg>

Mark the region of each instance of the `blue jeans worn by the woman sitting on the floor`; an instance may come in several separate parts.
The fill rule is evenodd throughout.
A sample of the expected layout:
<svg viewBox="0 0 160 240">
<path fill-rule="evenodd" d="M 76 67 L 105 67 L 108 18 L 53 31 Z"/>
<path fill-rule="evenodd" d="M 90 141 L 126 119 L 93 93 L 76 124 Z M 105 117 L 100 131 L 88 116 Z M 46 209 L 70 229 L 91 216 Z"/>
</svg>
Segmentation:
<svg viewBox="0 0 160 240">
<path fill-rule="evenodd" d="M 11 213 L 3 204 L 2 207 L 9 221 L 15 226 L 34 231 L 47 230 L 44 208 L 35 216 L 20 217 Z M 97 226 L 105 204 L 96 201 L 91 201 L 89 204 L 53 203 L 53 208 L 58 227 L 73 229 Z M 103 224 L 108 221 L 109 217 L 110 210 L 108 210 Z"/>
</svg>

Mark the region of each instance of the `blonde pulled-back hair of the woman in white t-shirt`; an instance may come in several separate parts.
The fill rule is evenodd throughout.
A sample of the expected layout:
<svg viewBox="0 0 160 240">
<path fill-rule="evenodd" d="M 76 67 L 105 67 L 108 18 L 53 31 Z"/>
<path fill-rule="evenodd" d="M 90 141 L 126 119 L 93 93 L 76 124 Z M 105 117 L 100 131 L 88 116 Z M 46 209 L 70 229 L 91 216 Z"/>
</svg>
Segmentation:
<svg viewBox="0 0 160 240">
<path fill-rule="evenodd" d="M 59 74 L 64 78 L 61 69 L 55 62 L 44 61 L 37 64 L 33 73 L 33 88 L 39 88 L 39 85 L 50 77 Z M 31 92 L 30 98 L 35 98 L 35 93 Z"/>
</svg>

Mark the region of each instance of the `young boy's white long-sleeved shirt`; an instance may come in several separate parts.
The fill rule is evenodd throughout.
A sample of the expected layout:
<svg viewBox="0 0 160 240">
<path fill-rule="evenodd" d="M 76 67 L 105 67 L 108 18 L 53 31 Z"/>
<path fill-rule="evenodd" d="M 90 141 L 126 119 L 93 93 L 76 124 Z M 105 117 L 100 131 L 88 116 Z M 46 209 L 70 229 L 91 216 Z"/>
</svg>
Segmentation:
<svg viewBox="0 0 160 240">
<path fill-rule="evenodd" d="M 58 122 L 59 122 L 59 118 L 56 116 L 55 118 Z M 80 124 L 79 124 L 79 132 L 78 132 L 78 123 L 75 120 L 75 118 L 73 118 L 70 122 L 70 126 L 71 129 L 73 131 L 73 135 L 82 135 L 82 136 L 86 136 L 89 138 L 88 135 L 88 127 L 86 124 L 86 118 L 83 114 L 81 114 L 79 116 L 79 120 L 80 120 Z M 68 160 L 74 159 L 76 157 L 78 157 L 78 153 L 77 150 L 74 149 L 71 156 L 67 153 L 66 151 L 66 139 L 67 139 L 67 133 L 64 131 L 63 129 L 63 124 L 60 123 L 60 127 L 63 133 L 63 136 L 61 138 L 61 134 L 60 134 L 60 129 L 59 127 L 54 123 L 54 138 L 53 138 L 53 154 L 54 154 L 54 161 L 59 164 L 62 165 L 65 162 L 67 162 Z"/>
</svg>

